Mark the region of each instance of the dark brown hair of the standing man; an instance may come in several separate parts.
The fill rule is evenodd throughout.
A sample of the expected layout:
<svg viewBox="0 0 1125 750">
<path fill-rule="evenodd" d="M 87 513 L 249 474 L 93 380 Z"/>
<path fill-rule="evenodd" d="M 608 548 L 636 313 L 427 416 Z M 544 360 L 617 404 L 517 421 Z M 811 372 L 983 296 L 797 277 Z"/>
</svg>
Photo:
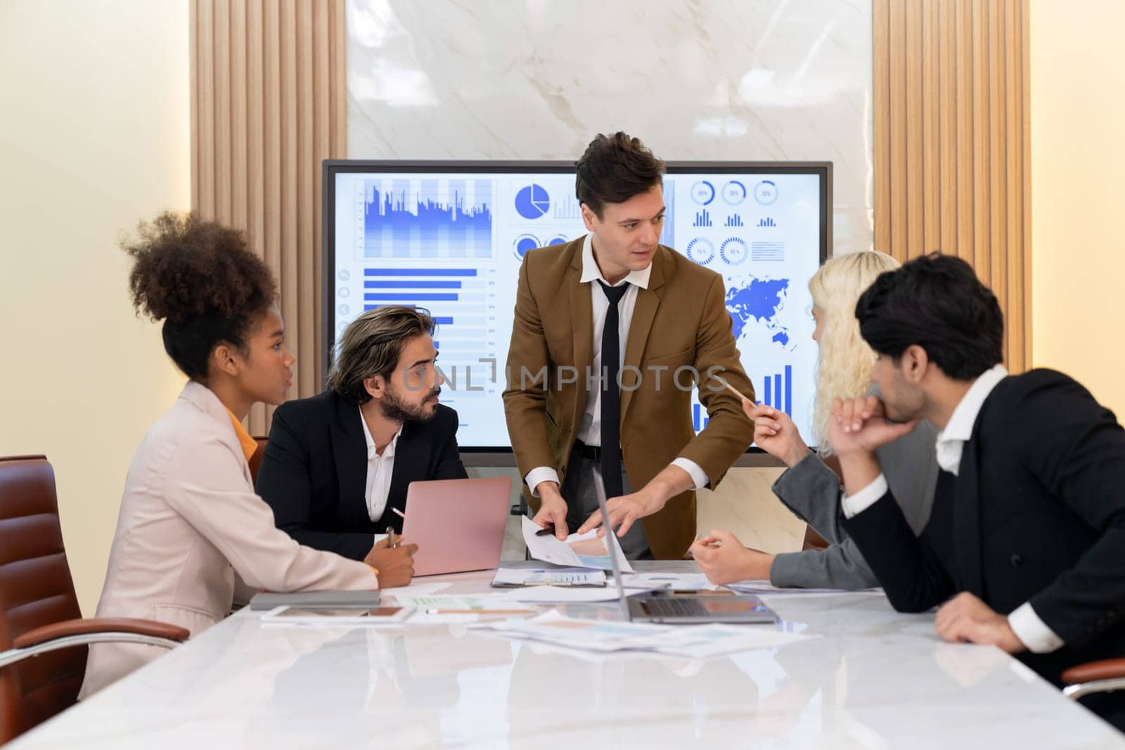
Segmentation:
<svg viewBox="0 0 1125 750">
<path fill-rule="evenodd" d="M 605 204 L 621 204 L 662 183 L 664 162 L 627 133 L 597 134 L 575 164 L 579 204 L 602 218 Z"/>
</svg>

